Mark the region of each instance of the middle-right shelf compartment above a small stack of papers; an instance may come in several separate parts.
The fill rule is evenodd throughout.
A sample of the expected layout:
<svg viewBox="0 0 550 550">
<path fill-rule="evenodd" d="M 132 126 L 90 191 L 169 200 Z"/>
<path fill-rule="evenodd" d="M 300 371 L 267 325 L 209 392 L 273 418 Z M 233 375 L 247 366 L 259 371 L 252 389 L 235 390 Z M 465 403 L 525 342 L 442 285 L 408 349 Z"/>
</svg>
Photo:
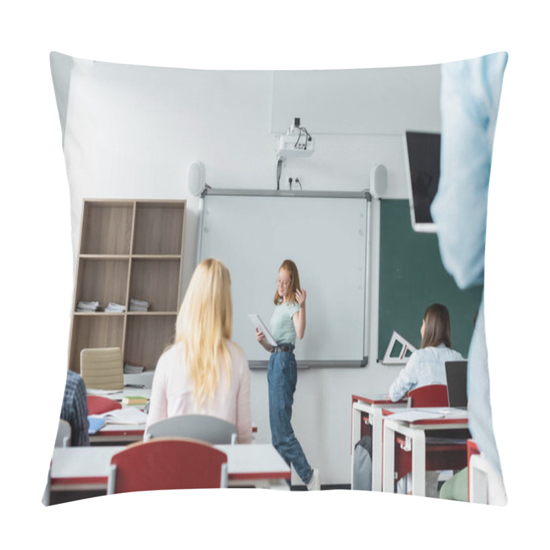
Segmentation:
<svg viewBox="0 0 550 550">
<path fill-rule="evenodd" d="M 151 312 L 177 311 L 180 266 L 179 259 L 132 259 L 128 305 L 134 298 L 146 300 Z"/>
</svg>

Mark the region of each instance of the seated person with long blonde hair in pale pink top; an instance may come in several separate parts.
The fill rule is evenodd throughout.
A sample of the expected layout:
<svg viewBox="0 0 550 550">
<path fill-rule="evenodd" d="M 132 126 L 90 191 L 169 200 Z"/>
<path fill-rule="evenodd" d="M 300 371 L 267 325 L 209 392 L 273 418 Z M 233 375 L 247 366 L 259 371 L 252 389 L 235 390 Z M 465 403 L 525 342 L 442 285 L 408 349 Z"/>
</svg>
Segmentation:
<svg viewBox="0 0 550 550">
<path fill-rule="evenodd" d="M 146 429 L 186 414 L 219 417 L 236 425 L 237 441 L 252 441 L 250 370 L 232 340 L 230 276 L 216 259 L 193 273 L 176 321 L 175 344 L 157 362 Z"/>
</svg>

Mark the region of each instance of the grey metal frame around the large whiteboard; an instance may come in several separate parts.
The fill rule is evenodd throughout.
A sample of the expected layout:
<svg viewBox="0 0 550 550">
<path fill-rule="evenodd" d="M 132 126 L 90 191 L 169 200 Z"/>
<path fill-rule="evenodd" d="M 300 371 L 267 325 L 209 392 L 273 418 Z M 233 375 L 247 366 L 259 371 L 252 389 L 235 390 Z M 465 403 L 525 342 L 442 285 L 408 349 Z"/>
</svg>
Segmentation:
<svg viewBox="0 0 550 550">
<path fill-rule="evenodd" d="M 199 197 L 199 225 L 197 230 L 197 248 L 195 250 L 195 267 L 199 265 L 202 247 L 202 234 L 204 223 L 204 199 L 206 195 L 210 196 L 231 196 L 231 197 L 298 197 L 298 198 L 325 198 L 325 199 L 365 199 L 367 201 L 367 228 L 366 228 L 366 265 L 365 265 L 365 305 L 363 322 L 363 359 L 360 361 L 302 361 L 296 362 L 298 369 L 325 368 L 325 367 L 364 367 L 369 363 L 369 355 L 365 354 L 365 345 L 370 341 L 369 334 L 366 332 L 366 318 L 370 318 L 370 279 L 371 279 L 371 202 L 373 196 L 369 190 L 358 192 L 348 191 L 290 191 L 290 190 L 265 190 L 265 189 L 212 189 L 206 188 Z M 251 369 L 267 369 L 267 360 L 250 360 L 248 362 Z"/>
</svg>

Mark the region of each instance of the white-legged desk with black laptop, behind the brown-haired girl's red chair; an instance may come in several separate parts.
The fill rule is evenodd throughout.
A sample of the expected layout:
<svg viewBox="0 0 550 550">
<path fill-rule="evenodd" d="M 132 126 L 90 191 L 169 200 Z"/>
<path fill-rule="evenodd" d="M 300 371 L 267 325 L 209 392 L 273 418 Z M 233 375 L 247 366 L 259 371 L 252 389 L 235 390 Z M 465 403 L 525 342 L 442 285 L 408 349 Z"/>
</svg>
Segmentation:
<svg viewBox="0 0 550 550">
<path fill-rule="evenodd" d="M 383 444 L 383 490 L 394 491 L 395 471 L 395 436 L 401 434 L 406 438 L 406 450 L 411 452 L 412 494 L 426 495 L 426 433 L 430 430 L 463 430 L 468 427 L 467 411 L 458 408 L 428 407 L 412 408 L 418 413 L 441 412 L 444 417 L 433 417 L 419 420 L 393 419 L 394 409 L 388 409 L 384 416 Z M 441 468 L 444 469 L 444 468 Z"/>
</svg>

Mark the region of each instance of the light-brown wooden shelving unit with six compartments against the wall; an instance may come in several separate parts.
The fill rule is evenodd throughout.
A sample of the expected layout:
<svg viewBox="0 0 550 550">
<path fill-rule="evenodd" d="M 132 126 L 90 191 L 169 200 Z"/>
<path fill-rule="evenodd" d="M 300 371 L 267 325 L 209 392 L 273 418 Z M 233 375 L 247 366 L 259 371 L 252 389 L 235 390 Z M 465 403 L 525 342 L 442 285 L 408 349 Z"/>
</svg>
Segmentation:
<svg viewBox="0 0 550 550">
<path fill-rule="evenodd" d="M 84 201 L 69 369 L 80 372 L 82 349 L 115 346 L 125 362 L 155 369 L 174 338 L 185 217 L 186 201 Z M 129 311 L 131 298 L 148 302 L 148 311 Z M 77 312 L 80 301 L 100 309 Z M 110 302 L 124 312 L 104 311 Z"/>
</svg>

